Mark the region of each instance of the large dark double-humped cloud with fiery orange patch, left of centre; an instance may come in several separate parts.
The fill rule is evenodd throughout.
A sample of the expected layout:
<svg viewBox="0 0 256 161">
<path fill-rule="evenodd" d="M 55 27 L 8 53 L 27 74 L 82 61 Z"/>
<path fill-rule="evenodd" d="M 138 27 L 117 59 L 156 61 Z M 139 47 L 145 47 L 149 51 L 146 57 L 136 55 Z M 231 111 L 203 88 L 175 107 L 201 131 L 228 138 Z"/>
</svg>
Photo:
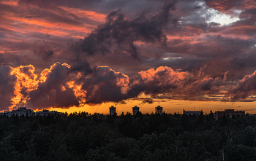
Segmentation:
<svg viewBox="0 0 256 161">
<path fill-rule="evenodd" d="M 75 69 L 56 63 L 50 70 L 43 71 L 40 79 L 45 75 L 45 82 L 39 82 L 37 89 L 29 93 L 28 106 L 34 109 L 68 108 L 83 103 L 119 102 L 127 98 L 124 93 L 129 84 L 128 76 L 104 66 L 95 68 L 90 74 L 78 74 L 80 69 Z"/>
</svg>

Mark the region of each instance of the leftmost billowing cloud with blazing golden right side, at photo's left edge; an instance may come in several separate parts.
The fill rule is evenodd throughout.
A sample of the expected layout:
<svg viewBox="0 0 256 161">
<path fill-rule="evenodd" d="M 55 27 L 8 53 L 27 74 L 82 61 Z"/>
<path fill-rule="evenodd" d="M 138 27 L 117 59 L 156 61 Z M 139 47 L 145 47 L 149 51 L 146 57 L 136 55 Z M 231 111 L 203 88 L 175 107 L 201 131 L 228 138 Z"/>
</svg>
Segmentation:
<svg viewBox="0 0 256 161">
<path fill-rule="evenodd" d="M 37 75 L 34 66 L 0 66 L 1 74 L 1 108 L 0 110 L 13 109 L 22 106 L 29 99 L 29 92 L 37 89 Z"/>
</svg>

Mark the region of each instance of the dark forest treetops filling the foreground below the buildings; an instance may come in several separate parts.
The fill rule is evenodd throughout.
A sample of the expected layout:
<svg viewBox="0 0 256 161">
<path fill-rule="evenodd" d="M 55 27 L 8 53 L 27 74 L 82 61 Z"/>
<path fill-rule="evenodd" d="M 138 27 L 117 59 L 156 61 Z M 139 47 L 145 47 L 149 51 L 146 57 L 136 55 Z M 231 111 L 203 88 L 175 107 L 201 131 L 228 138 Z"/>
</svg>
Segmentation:
<svg viewBox="0 0 256 161">
<path fill-rule="evenodd" d="M 256 160 L 256 118 L 73 113 L 0 117 L 0 160 Z"/>
</svg>

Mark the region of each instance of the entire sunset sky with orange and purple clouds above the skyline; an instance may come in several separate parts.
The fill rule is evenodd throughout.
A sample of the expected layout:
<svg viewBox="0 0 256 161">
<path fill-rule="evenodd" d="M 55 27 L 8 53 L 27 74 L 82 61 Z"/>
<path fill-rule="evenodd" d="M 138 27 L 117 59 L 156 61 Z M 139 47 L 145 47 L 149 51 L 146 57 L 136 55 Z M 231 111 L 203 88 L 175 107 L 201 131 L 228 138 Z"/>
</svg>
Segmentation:
<svg viewBox="0 0 256 161">
<path fill-rule="evenodd" d="M 256 113 L 255 0 L 0 0 L 0 111 Z"/>
</svg>

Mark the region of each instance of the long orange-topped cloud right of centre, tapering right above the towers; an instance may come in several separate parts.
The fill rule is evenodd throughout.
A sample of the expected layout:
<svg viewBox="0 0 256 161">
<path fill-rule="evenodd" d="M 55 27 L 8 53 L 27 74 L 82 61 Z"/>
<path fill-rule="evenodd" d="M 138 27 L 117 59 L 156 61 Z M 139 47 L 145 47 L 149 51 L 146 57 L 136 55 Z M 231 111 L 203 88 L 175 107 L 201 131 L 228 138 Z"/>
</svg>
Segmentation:
<svg viewBox="0 0 256 161">
<path fill-rule="evenodd" d="M 130 79 L 129 98 L 137 97 L 140 93 L 157 96 L 160 93 L 183 95 L 184 98 L 199 95 L 216 95 L 219 93 L 223 79 L 212 78 L 207 75 L 194 75 L 189 72 L 173 71 L 169 67 L 159 67 L 141 71 Z"/>
</svg>

